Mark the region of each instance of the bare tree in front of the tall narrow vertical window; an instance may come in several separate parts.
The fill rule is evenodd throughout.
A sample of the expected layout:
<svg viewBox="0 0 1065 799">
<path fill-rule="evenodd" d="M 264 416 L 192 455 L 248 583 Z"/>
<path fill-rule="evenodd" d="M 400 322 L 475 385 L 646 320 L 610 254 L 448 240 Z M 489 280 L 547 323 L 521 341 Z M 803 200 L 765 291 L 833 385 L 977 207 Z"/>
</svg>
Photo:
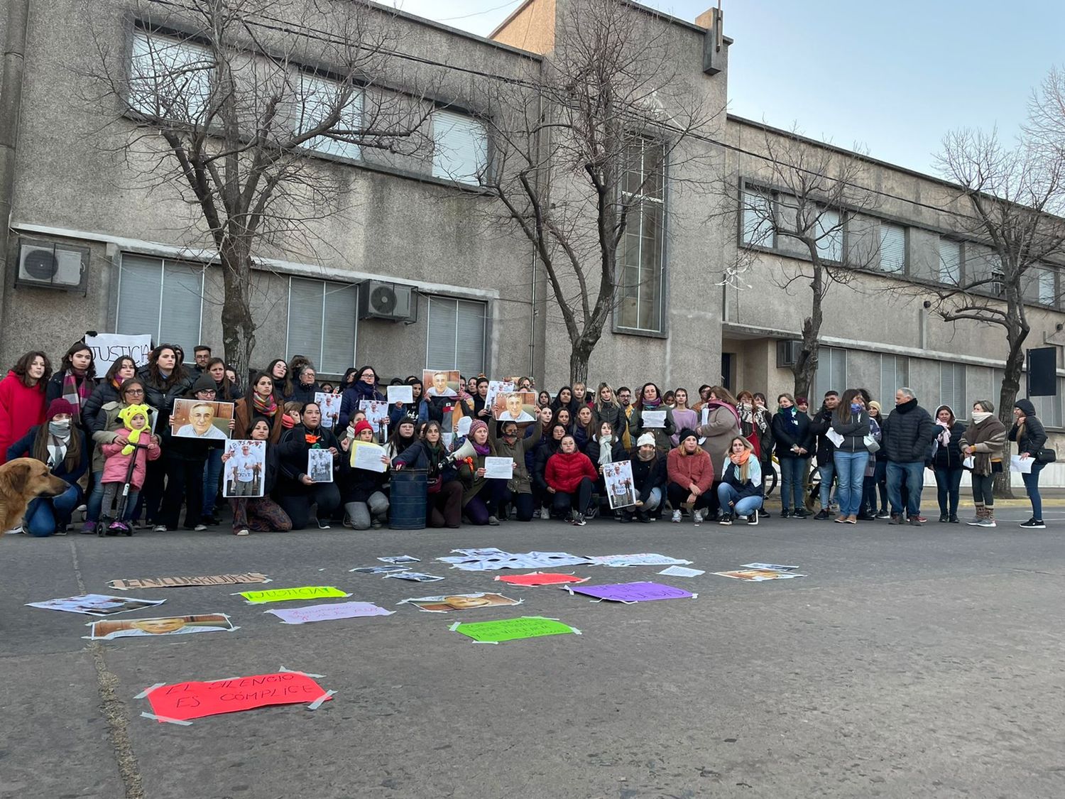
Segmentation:
<svg viewBox="0 0 1065 799">
<path fill-rule="evenodd" d="M 671 193 L 710 182 L 697 140 L 723 109 L 673 67 L 668 29 L 617 0 L 570 3 L 527 80 L 480 88 L 492 143 L 481 183 L 496 202 L 479 210 L 532 245 L 570 340 L 571 380 L 587 380 L 619 304 L 633 326 L 660 327 L 661 251 L 636 240 L 660 243 L 667 180 Z"/>
</svg>

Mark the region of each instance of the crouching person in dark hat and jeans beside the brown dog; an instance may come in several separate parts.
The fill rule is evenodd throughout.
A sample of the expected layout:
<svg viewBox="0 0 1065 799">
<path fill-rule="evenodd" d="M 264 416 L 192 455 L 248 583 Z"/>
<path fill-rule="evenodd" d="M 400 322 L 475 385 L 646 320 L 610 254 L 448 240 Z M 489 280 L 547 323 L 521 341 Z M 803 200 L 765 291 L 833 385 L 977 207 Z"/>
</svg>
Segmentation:
<svg viewBox="0 0 1065 799">
<path fill-rule="evenodd" d="M 68 488 L 59 496 L 37 496 L 26 508 L 23 532 L 44 537 L 63 533 L 70 524 L 70 515 L 82 502 L 78 480 L 88 468 L 85 434 L 73 424 L 76 408 L 66 399 L 52 399 L 45 421 L 6 449 L 7 460 L 35 458 L 48 467 Z M 2 531 L 0 531 L 2 532 Z"/>
</svg>

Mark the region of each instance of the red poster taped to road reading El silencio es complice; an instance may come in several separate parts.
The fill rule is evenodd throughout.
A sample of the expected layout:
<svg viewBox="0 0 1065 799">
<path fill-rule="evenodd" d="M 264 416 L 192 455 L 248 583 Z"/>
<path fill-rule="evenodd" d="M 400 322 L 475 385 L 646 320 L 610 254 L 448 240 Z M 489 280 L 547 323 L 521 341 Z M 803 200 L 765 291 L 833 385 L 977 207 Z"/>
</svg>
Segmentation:
<svg viewBox="0 0 1065 799">
<path fill-rule="evenodd" d="M 272 704 L 311 704 L 325 692 L 307 674 L 282 671 L 210 683 L 161 685 L 148 692 L 148 701 L 161 721 L 187 721 Z"/>
</svg>

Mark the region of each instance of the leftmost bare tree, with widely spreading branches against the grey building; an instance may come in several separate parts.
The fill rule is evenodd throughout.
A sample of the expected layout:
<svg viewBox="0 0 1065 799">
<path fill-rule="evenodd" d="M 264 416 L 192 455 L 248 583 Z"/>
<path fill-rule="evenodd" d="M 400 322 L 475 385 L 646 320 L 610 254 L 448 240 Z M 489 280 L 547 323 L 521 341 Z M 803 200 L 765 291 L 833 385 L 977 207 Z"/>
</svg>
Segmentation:
<svg viewBox="0 0 1065 799">
<path fill-rule="evenodd" d="M 134 16 L 132 58 L 101 27 L 81 75 L 106 114 L 100 146 L 186 203 L 175 224 L 222 267 L 226 359 L 243 375 L 257 261 L 314 257 L 322 221 L 344 208 L 350 177 L 322 159 L 413 152 L 428 110 L 383 86 L 395 33 L 366 0 L 145 0 Z"/>
</svg>

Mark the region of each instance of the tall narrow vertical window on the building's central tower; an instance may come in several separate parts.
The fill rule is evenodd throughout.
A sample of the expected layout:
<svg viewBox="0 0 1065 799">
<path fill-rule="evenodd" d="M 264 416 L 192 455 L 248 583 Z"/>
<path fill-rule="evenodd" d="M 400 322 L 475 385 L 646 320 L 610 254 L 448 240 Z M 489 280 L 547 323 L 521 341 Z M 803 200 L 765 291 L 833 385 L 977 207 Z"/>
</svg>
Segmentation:
<svg viewBox="0 0 1065 799">
<path fill-rule="evenodd" d="M 628 208 L 622 243 L 618 327 L 662 331 L 666 240 L 666 152 L 660 142 L 638 138 L 628 146 L 622 201 Z"/>
</svg>

